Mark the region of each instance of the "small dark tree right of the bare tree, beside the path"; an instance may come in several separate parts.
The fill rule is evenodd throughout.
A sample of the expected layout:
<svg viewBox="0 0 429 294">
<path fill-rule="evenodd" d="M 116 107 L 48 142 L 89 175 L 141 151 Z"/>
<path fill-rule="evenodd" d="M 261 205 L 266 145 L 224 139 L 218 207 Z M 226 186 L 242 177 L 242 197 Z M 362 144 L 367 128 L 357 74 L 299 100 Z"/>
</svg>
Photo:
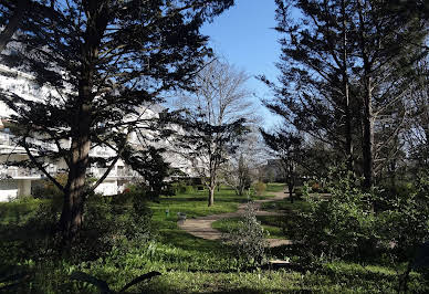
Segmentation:
<svg viewBox="0 0 429 294">
<path fill-rule="evenodd" d="M 281 160 L 281 167 L 289 189 L 289 198 L 293 202 L 293 189 L 297 180 L 297 166 L 303 160 L 303 138 L 286 130 L 269 134 L 261 129 L 261 134 L 266 146 Z"/>
</svg>

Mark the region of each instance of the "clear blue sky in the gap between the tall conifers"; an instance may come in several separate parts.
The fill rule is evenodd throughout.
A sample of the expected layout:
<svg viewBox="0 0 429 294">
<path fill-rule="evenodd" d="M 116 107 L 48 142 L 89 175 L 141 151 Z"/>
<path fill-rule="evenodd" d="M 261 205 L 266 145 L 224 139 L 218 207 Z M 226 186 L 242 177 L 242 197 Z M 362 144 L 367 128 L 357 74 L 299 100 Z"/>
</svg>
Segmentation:
<svg viewBox="0 0 429 294">
<path fill-rule="evenodd" d="M 274 65 L 280 56 L 274 12 L 274 0 L 236 0 L 236 6 L 202 29 L 217 54 L 252 76 L 248 86 L 259 104 L 259 98 L 271 97 L 272 93 L 253 76 L 264 74 L 275 80 L 279 75 Z M 278 118 L 263 106 L 259 109 L 265 120 L 263 126 L 272 127 Z"/>
</svg>

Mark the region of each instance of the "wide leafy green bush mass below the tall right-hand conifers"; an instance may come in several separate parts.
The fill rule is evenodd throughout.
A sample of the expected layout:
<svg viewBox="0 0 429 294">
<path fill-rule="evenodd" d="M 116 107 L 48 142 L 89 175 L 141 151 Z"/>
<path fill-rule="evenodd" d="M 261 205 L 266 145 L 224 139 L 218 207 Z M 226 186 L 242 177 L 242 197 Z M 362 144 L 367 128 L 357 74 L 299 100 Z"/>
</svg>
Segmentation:
<svg viewBox="0 0 429 294">
<path fill-rule="evenodd" d="M 429 180 L 419 180 L 414 193 L 393 195 L 379 188 L 364 192 L 362 180 L 346 171 L 332 176 L 328 198 L 312 198 L 306 187 L 310 210 L 287 214 L 294 221 L 286 222 L 285 233 L 299 241 L 306 261 L 388 254 L 404 262 L 429 239 Z"/>
</svg>

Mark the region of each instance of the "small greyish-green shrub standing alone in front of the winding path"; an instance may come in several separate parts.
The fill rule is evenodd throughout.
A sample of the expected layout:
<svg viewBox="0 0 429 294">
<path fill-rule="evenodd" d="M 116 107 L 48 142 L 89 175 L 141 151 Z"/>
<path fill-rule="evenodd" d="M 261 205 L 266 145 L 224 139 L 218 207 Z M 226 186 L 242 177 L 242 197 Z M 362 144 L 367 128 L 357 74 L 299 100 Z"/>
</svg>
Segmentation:
<svg viewBox="0 0 429 294">
<path fill-rule="evenodd" d="M 232 245 L 239 260 L 245 264 L 261 265 L 268 246 L 265 235 L 268 232 L 257 220 L 254 204 L 249 202 L 245 206 L 243 220 L 223 239 Z"/>
</svg>

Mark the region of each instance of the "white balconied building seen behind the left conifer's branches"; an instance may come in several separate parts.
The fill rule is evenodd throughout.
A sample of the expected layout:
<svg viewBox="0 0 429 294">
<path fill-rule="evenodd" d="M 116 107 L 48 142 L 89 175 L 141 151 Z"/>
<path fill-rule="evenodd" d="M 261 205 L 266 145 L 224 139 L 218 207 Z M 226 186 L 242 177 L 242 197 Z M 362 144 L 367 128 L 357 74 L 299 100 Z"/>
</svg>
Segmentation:
<svg viewBox="0 0 429 294">
<path fill-rule="evenodd" d="M 29 99 L 36 99 L 38 96 L 49 94 L 48 87 L 40 87 L 32 82 L 33 77 L 29 74 L 10 70 L 0 65 L 0 87 L 19 94 Z M 146 109 L 147 115 L 157 115 L 150 109 Z M 8 166 L 8 161 L 19 161 L 28 159 L 28 155 L 22 147 L 17 147 L 15 137 L 11 132 L 13 125 L 9 122 L 12 111 L 0 102 L 0 201 L 31 195 L 35 183 L 45 176 L 38 169 L 24 169 Z M 136 134 L 130 136 L 132 143 L 138 145 Z M 45 144 L 40 140 L 32 140 L 32 144 Z M 168 144 L 168 143 L 165 143 Z M 62 141 L 61 145 L 70 146 L 70 141 Z M 48 148 L 57 149 L 56 146 L 45 146 Z M 95 147 L 90 151 L 90 156 L 111 158 L 115 156 L 115 151 L 107 147 Z M 179 156 L 170 153 L 166 158 L 172 166 L 180 168 L 185 172 L 190 171 L 189 164 Z M 92 166 L 88 175 L 94 178 L 100 178 L 104 175 L 107 168 Z M 46 162 L 46 170 L 51 175 L 66 171 L 65 162 Z M 138 174 L 128 168 L 121 159 L 111 170 L 107 178 L 96 188 L 96 192 L 104 195 L 116 195 L 122 192 L 125 186 L 139 178 Z"/>
</svg>

